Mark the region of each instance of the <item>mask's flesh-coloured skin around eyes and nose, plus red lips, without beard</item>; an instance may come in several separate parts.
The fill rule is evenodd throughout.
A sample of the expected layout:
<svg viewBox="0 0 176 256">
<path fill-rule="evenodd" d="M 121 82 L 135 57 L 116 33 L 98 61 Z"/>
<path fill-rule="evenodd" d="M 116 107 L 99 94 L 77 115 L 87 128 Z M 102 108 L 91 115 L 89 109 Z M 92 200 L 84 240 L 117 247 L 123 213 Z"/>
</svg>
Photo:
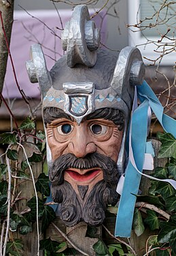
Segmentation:
<svg viewBox="0 0 176 256">
<path fill-rule="evenodd" d="M 105 119 L 85 120 L 79 126 L 73 119 L 59 118 L 47 126 L 52 160 L 68 153 L 77 158 L 85 158 L 88 154 L 97 152 L 117 162 L 122 135 L 123 132 L 118 130 L 116 124 Z M 87 171 L 81 169 L 73 170 L 73 173 L 69 170 L 73 180 L 80 183 L 89 183 L 92 180 L 93 173 L 86 173 Z"/>
</svg>

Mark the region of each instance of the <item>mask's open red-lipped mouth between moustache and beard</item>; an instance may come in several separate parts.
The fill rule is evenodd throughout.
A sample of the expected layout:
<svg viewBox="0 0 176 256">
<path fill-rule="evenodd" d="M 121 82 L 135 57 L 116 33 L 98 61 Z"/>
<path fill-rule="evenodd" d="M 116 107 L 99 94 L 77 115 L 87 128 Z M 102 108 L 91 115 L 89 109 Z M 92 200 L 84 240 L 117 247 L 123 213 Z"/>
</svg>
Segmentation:
<svg viewBox="0 0 176 256">
<path fill-rule="evenodd" d="M 86 180 L 92 180 L 96 175 L 99 175 L 101 169 L 91 169 L 86 172 L 84 171 L 83 173 L 75 171 L 74 169 L 67 169 L 65 172 L 67 172 L 74 180 L 77 180 L 77 182 L 84 182 Z"/>
</svg>

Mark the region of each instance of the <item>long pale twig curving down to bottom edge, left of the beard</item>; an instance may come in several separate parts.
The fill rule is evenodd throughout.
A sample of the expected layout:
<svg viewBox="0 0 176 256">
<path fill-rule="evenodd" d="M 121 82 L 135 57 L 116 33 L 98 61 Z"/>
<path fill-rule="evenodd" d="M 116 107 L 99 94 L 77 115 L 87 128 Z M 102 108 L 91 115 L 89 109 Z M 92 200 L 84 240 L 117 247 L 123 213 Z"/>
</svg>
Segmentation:
<svg viewBox="0 0 176 256">
<path fill-rule="evenodd" d="M 33 170 L 31 169 L 31 165 L 29 164 L 29 160 L 28 160 L 28 157 L 27 157 L 27 153 L 23 147 L 23 145 L 21 145 L 20 143 L 17 143 L 18 145 L 20 145 L 20 147 L 22 147 L 22 150 L 24 152 L 24 156 L 27 160 L 27 164 L 29 166 L 29 170 L 31 171 L 31 176 L 32 176 L 32 179 L 33 179 L 33 187 L 34 187 L 34 191 L 35 191 L 35 197 L 36 197 L 36 212 L 37 212 L 37 220 L 36 220 L 36 223 L 37 223 L 37 256 L 39 256 L 39 203 L 38 203 L 38 197 L 37 197 L 37 190 L 36 190 L 36 187 L 35 187 L 35 179 L 34 179 L 34 175 L 33 175 Z"/>
</svg>

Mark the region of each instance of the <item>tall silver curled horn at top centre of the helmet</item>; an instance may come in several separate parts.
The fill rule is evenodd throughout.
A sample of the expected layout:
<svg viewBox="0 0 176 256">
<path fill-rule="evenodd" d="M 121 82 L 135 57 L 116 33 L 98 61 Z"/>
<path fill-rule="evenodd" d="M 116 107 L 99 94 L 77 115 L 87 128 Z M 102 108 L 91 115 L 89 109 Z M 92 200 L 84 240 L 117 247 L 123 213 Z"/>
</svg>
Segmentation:
<svg viewBox="0 0 176 256">
<path fill-rule="evenodd" d="M 71 20 L 61 33 L 63 50 L 67 51 L 67 65 L 73 68 L 81 63 L 88 67 L 96 63 L 96 50 L 100 45 L 100 31 L 90 20 L 86 5 L 77 5 Z"/>
</svg>

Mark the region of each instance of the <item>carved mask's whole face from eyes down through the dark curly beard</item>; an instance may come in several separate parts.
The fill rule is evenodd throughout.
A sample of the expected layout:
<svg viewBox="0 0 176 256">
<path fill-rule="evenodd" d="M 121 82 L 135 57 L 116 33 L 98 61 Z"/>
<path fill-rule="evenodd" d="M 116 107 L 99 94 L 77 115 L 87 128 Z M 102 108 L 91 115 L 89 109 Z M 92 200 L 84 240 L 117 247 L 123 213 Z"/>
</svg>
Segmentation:
<svg viewBox="0 0 176 256">
<path fill-rule="evenodd" d="M 66 225 L 75 225 L 81 219 L 91 225 L 101 224 L 105 218 L 105 205 L 117 200 L 116 162 L 122 135 L 123 131 L 118 129 L 118 125 L 103 118 L 84 119 L 78 125 L 73 117 L 61 117 L 47 124 L 48 145 L 54 162 L 49 173 L 52 197 L 54 201 L 64 205 L 61 215 L 64 212 L 62 218 Z M 88 214 L 92 209 L 92 194 L 96 194 L 93 196 L 95 205 L 101 209 L 98 221 L 95 216 L 91 218 Z M 68 203 L 69 197 L 75 199 L 70 198 Z M 73 215 L 76 217 L 72 216 L 69 221 L 68 218 L 65 219 L 63 210 L 68 205 L 69 208 L 70 205 L 76 205 L 75 210 L 69 210 L 75 212 Z"/>
</svg>

